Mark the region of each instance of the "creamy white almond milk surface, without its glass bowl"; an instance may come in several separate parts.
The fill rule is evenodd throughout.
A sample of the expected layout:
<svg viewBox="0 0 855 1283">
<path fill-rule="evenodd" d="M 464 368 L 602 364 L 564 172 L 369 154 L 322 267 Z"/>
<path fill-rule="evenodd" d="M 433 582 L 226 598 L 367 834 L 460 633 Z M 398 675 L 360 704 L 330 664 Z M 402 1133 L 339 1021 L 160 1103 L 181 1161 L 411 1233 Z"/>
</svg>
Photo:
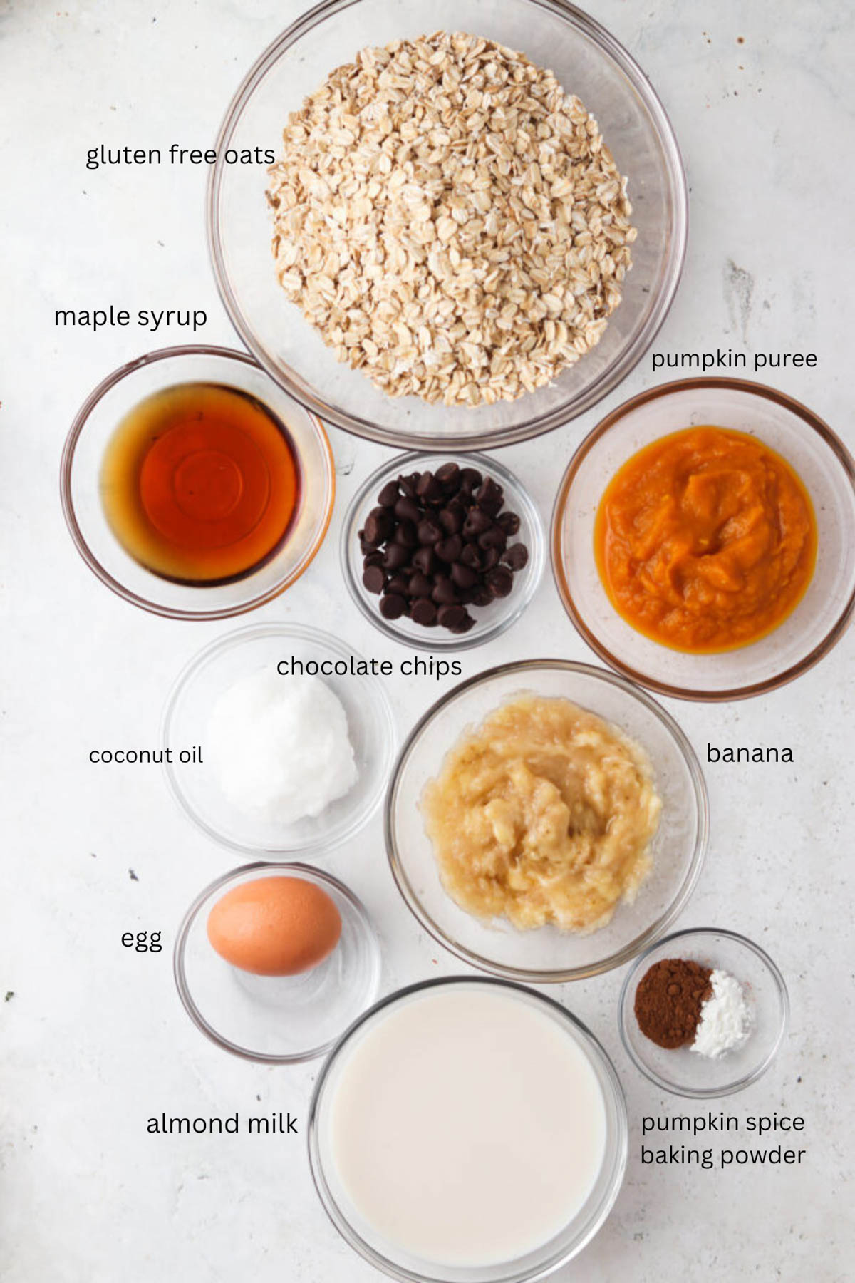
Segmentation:
<svg viewBox="0 0 855 1283">
<path fill-rule="evenodd" d="M 329 1155 L 356 1221 L 432 1262 L 490 1265 L 541 1246 L 602 1164 L 605 1105 L 586 1051 L 513 989 L 404 999 L 345 1048 L 329 1089 Z"/>
</svg>

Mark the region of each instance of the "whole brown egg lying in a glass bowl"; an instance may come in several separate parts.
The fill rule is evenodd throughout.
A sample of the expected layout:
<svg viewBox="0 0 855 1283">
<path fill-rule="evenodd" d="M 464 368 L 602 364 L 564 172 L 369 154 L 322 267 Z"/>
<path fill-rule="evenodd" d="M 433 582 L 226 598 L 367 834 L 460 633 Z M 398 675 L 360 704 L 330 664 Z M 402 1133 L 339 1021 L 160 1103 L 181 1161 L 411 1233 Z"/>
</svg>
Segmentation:
<svg viewBox="0 0 855 1283">
<path fill-rule="evenodd" d="M 341 915 L 326 890 L 303 878 L 255 878 L 233 887 L 208 915 L 220 957 L 255 975 L 297 975 L 332 953 Z"/>
</svg>

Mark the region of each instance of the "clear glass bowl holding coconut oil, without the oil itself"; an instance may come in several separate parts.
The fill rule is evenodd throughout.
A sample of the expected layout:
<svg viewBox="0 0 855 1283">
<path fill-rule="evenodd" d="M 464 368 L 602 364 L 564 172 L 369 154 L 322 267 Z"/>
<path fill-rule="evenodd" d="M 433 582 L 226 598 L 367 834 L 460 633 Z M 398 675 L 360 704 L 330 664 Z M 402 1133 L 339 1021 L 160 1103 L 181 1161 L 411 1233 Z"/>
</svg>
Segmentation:
<svg viewBox="0 0 855 1283">
<path fill-rule="evenodd" d="M 283 828 L 261 815 L 238 811 L 224 797 L 213 767 L 204 762 L 204 743 L 212 707 L 223 690 L 256 668 L 291 659 L 341 670 L 306 675 L 320 676 L 344 704 L 359 779 L 319 816 Z M 190 661 L 167 701 L 160 736 L 176 758 L 182 748 L 203 748 L 203 763 L 164 763 L 173 795 L 203 833 L 235 851 L 279 856 L 341 844 L 365 824 L 388 779 L 395 722 L 382 683 L 370 675 L 350 674 L 351 663 L 361 662 L 355 650 L 328 633 L 300 624 L 238 629 L 212 642 Z"/>
</svg>

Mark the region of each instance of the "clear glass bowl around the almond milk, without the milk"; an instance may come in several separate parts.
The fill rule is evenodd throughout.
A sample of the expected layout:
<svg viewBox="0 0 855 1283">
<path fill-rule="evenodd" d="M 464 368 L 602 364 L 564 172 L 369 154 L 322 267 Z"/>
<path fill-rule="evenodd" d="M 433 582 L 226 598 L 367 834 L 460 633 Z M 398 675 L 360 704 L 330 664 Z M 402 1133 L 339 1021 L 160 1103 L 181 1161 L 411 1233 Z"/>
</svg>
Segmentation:
<svg viewBox="0 0 855 1283">
<path fill-rule="evenodd" d="M 331 1137 L 331 1106 L 341 1080 L 341 1071 L 346 1067 L 349 1052 L 359 1044 L 367 1033 L 381 1025 L 388 1015 L 405 1003 L 418 1002 L 437 988 L 483 985 L 517 994 L 522 1002 L 546 1014 L 561 1032 L 567 1033 L 582 1048 L 602 1092 L 606 1130 L 605 1155 L 600 1174 L 586 1202 L 569 1224 L 541 1247 L 499 1265 L 437 1266 L 386 1242 L 365 1223 L 350 1202 L 336 1171 Z M 524 989 L 522 985 L 483 978 L 450 976 L 440 980 L 426 980 L 422 984 L 400 989 L 397 993 L 382 998 L 351 1025 L 318 1075 L 309 1111 L 309 1161 L 315 1188 L 333 1225 L 345 1241 L 376 1269 L 383 1270 L 395 1279 L 411 1280 L 411 1283 L 523 1283 L 526 1279 L 545 1278 L 559 1269 L 581 1252 L 597 1233 L 609 1215 L 623 1182 L 627 1164 L 627 1106 L 614 1066 L 594 1034 L 576 1016 L 559 1003 L 552 1002 L 551 998 Z M 438 1273 L 440 1270 L 441 1273 Z"/>
</svg>

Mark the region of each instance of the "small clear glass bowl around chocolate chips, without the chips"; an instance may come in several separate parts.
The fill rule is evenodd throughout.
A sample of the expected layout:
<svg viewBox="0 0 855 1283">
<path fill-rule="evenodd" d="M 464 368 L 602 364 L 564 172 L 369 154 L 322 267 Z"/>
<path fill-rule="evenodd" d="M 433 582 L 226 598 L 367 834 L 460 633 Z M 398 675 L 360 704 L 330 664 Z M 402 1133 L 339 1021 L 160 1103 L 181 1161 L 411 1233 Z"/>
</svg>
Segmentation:
<svg viewBox="0 0 855 1283">
<path fill-rule="evenodd" d="M 400 473 L 423 472 L 427 468 L 435 471 L 442 463 L 449 462 L 458 463 L 461 468 L 477 468 L 504 486 L 505 509 L 515 512 L 520 518 L 519 534 L 514 535 L 509 543 L 523 543 L 528 548 L 528 561 L 514 575 L 511 591 L 508 597 L 497 598 L 490 606 L 470 606 L 469 611 L 476 622 L 463 635 L 449 633 L 447 629 L 438 626 L 426 629 L 406 617 L 385 620 L 378 609 L 379 597 L 376 593 L 369 593 L 363 584 L 363 557 L 358 536 L 358 531 L 365 525 L 365 517 L 377 504 L 378 493 L 387 481 L 395 480 Z M 388 459 L 376 472 L 372 472 L 351 500 L 341 531 L 341 567 L 354 602 L 386 636 L 423 650 L 465 650 L 497 638 L 523 613 L 535 595 L 544 571 L 545 543 L 544 526 L 532 499 L 519 479 L 496 459 L 483 454 L 396 454 L 394 459 Z"/>
</svg>

